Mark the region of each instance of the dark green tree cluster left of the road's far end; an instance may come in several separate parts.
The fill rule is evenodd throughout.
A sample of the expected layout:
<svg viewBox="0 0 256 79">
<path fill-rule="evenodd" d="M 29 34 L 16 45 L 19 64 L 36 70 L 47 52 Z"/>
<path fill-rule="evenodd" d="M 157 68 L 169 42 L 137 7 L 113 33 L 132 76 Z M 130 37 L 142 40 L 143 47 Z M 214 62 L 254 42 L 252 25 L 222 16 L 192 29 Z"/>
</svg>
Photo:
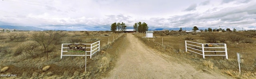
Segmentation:
<svg viewBox="0 0 256 79">
<path fill-rule="evenodd" d="M 113 32 L 113 33 L 116 33 L 116 30 L 118 31 L 118 32 L 124 32 L 125 30 L 126 30 L 126 25 L 125 25 L 125 23 L 124 22 L 122 22 L 122 23 L 116 23 L 116 22 L 114 22 L 113 24 L 111 24 L 111 28 L 110 28 L 110 30 Z"/>
</svg>

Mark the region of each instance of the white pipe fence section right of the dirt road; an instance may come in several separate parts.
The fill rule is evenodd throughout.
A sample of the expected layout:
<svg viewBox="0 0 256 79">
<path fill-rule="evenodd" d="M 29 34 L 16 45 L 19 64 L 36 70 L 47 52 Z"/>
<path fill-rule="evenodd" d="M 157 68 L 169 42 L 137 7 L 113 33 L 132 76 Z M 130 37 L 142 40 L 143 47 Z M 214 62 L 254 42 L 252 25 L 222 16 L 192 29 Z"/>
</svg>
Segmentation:
<svg viewBox="0 0 256 79">
<path fill-rule="evenodd" d="M 214 46 L 211 47 L 208 45 L 214 45 Z M 205 56 L 225 56 L 226 59 L 228 59 L 228 51 L 227 51 L 226 43 L 198 43 L 193 41 L 185 41 L 185 47 L 186 47 L 186 52 L 191 51 L 193 53 L 203 55 L 204 59 L 205 59 Z M 210 49 L 218 49 L 218 50 L 215 51 Z M 215 54 L 209 54 L 210 52 L 214 52 Z M 225 54 L 216 54 L 216 52 L 220 52 L 220 53 L 224 52 Z"/>
</svg>

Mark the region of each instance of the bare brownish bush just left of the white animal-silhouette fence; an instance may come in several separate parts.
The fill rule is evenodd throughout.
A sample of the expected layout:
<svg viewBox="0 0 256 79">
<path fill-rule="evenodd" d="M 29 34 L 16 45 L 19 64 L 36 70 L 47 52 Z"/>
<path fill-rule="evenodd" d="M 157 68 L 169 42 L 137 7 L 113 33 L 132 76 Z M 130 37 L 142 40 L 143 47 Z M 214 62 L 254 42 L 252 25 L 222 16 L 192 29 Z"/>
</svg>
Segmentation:
<svg viewBox="0 0 256 79">
<path fill-rule="evenodd" d="M 61 43 L 62 38 L 66 37 L 67 34 L 64 32 L 36 32 L 32 34 L 31 38 L 36 41 L 39 45 L 44 47 L 44 53 L 47 53 L 48 58 L 48 51 L 49 47 L 50 50 L 53 50 L 54 45 L 58 45 Z"/>
</svg>

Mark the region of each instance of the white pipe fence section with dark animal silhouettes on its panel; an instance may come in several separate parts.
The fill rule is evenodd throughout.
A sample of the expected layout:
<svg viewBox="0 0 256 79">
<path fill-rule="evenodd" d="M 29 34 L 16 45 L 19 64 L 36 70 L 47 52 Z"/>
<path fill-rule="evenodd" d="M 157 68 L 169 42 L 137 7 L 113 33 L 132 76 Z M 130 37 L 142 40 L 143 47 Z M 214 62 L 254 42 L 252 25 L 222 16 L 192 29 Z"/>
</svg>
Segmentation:
<svg viewBox="0 0 256 79">
<path fill-rule="evenodd" d="M 85 52 L 90 52 L 90 55 L 63 55 L 63 52 L 68 52 L 64 51 L 64 49 L 69 49 L 69 47 L 64 47 L 64 45 L 71 45 L 71 44 L 76 44 L 76 45 L 90 45 L 90 47 L 82 47 Z M 95 45 L 96 44 L 96 45 Z M 76 47 L 75 47 L 76 48 Z M 77 49 L 77 48 L 76 48 Z M 90 51 L 86 51 L 86 49 L 90 49 Z M 100 41 L 96 41 L 94 43 L 62 43 L 61 44 L 61 54 L 60 54 L 60 59 L 62 59 L 62 56 L 90 56 L 92 58 L 92 55 L 96 53 L 97 51 L 100 51 Z"/>
</svg>

